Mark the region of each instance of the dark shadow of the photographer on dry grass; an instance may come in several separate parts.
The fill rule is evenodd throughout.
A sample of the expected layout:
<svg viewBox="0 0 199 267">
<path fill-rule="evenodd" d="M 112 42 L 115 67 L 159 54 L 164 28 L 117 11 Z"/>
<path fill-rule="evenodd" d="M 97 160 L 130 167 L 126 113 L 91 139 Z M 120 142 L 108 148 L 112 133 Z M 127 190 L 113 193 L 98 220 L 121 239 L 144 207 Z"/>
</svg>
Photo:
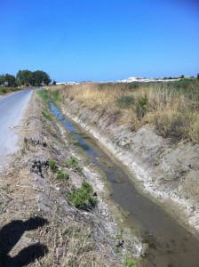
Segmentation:
<svg viewBox="0 0 199 267">
<path fill-rule="evenodd" d="M 27 221 L 12 221 L 0 230 L 0 267 L 22 267 L 43 257 L 48 249 L 40 243 L 23 248 L 14 257 L 8 255 L 25 231 L 43 227 L 48 221 L 41 217 L 32 217 Z"/>
</svg>

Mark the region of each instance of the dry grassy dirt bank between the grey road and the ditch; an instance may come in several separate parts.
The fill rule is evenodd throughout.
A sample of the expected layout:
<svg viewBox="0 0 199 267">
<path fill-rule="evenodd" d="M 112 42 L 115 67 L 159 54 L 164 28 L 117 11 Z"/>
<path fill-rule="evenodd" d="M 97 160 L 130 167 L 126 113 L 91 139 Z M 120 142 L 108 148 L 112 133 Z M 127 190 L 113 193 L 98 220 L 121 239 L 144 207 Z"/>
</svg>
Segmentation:
<svg viewBox="0 0 199 267">
<path fill-rule="evenodd" d="M 114 252 L 115 223 L 103 207 L 100 188 L 92 212 L 76 209 L 66 198 L 88 177 L 99 186 L 97 174 L 89 166 L 83 172 L 65 166 L 78 156 L 36 93 L 24 121 L 20 151 L 0 178 L 0 266 L 122 266 Z M 52 172 L 52 158 L 68 179 Z M 80 159 L 79 166 L 84 166 Z"/>
</svg>

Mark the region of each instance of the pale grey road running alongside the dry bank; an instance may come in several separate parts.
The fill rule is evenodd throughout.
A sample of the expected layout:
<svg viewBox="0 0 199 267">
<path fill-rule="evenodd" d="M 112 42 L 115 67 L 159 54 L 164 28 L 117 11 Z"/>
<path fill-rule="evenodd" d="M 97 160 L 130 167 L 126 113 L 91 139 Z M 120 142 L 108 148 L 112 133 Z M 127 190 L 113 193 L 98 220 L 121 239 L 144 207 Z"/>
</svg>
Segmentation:
<svg viewBox="0 0 199 267">
<path fill-rule="evenodd" d="M 0 99 L 0 173 L 7 157 L 17 150 L 17 130 L 33 90 L 12 93 Z"/>
</svg>

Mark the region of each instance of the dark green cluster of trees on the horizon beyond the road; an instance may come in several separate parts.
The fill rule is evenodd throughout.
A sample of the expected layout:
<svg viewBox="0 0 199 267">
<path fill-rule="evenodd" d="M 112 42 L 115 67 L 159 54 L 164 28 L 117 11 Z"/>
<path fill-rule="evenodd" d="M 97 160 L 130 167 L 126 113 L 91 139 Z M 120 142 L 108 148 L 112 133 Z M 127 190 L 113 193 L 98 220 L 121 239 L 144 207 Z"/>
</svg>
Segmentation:
<svg viewBox="0 0 199 267">
<path fill-rule="evenodd" d="M 16 77 L 11 74 L 0 75 L 0 85 L 16 86 L 42 86 L 49 85 L 52 82 L 50 76 L 42 71 L 30 71 L 28 69 L 19 70 Z"/>
</svg>

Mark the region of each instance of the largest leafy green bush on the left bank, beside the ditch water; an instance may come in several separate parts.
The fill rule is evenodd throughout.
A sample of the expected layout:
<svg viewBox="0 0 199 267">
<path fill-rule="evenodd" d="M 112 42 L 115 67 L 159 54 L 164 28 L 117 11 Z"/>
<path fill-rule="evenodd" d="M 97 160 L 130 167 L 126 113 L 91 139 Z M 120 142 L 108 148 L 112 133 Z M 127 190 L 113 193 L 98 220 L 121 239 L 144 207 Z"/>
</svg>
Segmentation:
<svg viewBox="0 0 199 267">
<path fill-rule="evenodd" d="M 85 181 L 78 190 L 72 190 L 68 194 L 68 200 L 77 208 L 84 210 L 92 209 L 97 203 L 97 198 L 93 196 L 92 185 Z"/>
</svg>

